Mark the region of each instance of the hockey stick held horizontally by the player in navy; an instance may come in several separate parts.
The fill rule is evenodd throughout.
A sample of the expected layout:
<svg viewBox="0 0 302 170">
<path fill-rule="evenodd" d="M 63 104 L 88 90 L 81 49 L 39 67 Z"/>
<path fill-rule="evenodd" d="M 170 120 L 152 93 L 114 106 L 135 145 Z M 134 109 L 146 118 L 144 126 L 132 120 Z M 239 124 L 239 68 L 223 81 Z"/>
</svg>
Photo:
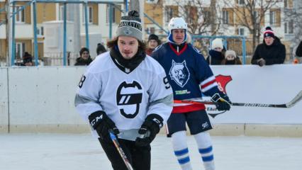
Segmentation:
<svg viewBox="0 0 302 170">
<path fill-rule="evenodd" d="M 291 108 L 298 101 L 301 101 L 302 91 L 300 91 L 291 101 L 284 104 L 265 104 L 265 103 L 232 103 L 232 106 L 246 106 L 246 107 L 264 107 L 264 108 Z M 174 103 L 203 103 L 208 105 L 215 105 L 213 101 L 203 101 L 201 98 L 190 98 L 185 100 L 174 100 Z"/>
</svg>

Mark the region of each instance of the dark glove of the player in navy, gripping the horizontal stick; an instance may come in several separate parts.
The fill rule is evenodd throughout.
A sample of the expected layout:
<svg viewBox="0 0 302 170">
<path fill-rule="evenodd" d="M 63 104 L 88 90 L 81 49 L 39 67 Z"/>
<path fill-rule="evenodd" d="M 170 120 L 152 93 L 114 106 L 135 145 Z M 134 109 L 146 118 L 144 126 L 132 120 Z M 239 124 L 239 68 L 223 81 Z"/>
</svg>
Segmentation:
<svg viewBox="0 0 302 170">
<path fill-rule="evenodd" d="M 226 94 L 223 94 L 222 92 L 214 94 L 211 101 L 215 102 L 218 111 L 230 111 L 232 102 Z"/>
</svg>

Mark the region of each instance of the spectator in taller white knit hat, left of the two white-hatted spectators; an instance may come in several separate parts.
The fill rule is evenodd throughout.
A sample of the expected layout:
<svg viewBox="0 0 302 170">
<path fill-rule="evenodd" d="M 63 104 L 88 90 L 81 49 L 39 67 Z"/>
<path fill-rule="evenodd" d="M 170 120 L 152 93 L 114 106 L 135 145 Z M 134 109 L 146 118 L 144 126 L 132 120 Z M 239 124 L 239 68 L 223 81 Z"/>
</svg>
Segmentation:
<svg viewBox="0 0 302 170">
<path fill-rule="evenodd" d="M 211 65 L 220 65 L 225 58 L 225 47 L 223 47 L 223 40 L 216 38 L 212 41 L 212 48 L 208 52 L 206 61 Z"/>
</svg>

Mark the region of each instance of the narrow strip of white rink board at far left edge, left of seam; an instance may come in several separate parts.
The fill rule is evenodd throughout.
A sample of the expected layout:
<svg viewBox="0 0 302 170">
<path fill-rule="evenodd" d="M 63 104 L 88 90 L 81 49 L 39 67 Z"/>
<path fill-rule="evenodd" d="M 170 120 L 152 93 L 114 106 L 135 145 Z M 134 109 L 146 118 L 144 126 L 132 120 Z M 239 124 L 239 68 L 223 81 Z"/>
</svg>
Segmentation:
<svg viewBox="0 0 302 170">
<path fill-rule="evenodd" d="M 0 133 L 9 131 L 9 98 L 7 94 L 7 68 L 0 68 Z"/>
</svg>

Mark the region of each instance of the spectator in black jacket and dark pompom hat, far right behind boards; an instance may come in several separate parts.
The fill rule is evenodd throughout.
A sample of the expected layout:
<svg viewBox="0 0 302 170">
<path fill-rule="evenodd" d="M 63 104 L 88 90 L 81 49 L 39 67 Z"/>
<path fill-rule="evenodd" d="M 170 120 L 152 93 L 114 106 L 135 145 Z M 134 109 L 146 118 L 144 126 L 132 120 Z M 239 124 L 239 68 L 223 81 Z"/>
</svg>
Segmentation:
<svg viewBox="0 0 302 170">
<path fill-rule="evenodd" d="M 254 55 L 252 56 L 252 64 L 260 67 L 264 65 L 283 64 L 286 55 L 285 46 L 280 39 L 274 35 L 271 27 L 267 26 L 263 33 L 262 44 L 257 45 Z"/>
</svg>

